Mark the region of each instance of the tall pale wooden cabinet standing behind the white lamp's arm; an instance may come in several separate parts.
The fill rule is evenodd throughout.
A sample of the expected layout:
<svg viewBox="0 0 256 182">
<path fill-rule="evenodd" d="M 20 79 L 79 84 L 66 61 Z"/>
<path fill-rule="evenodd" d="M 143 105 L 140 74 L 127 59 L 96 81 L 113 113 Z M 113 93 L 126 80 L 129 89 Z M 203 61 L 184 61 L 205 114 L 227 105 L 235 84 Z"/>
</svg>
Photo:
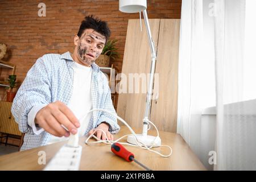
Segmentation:
<svg viewBox="0 0 256 182">
<path fill-rule="evenodd" d="M 155 123 L 159 130 L 176 132 L 180 19 L 150 19 L 149 23 L 157 52 L 155 73 L 158 73 L 158 83 L 154 82 L 154 93 L 159 96 L 157 100 L 151 101 L 150 121 Z M 139 75 L 150 73 L 150 46 L 144 22 L 142 26 L 141 32 L 139 20 L 129 20 L 122 66 L 122 73 L 127 78 L 127 84 L 123 82 L 123 85 L 126 84 L 127 89 L 126 93 L 121 93 L 119 90 L 117 104 L 117 114 L 131 127 L 141 129 L 146 107 L 146 92 L 142 92 L 142 77 L 139 77 L 139 86 L 141 86 L 139 93 L 131 93 L 128 88 L 131 82 L 130 73 Z M 124 91 L 123 86 L 122 91 Z"/>
</svg>

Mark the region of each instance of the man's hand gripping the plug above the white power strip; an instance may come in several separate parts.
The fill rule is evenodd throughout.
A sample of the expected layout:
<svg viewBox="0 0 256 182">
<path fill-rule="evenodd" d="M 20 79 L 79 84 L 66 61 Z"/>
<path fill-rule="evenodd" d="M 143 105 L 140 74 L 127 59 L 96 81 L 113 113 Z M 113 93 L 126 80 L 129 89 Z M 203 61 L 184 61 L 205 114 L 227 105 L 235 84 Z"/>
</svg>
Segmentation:
<svg viewBox="0 0 256 182">
<path fill-rule="evenodd" d="M 39 110 L 35 117 L 35 123 L 56 137 L 69 137 L 70 133 L 76 134 L 77 128 L 80 127 L 80 123 L 72 111 L 60 101 L 48 104 Z"/>
</svg>

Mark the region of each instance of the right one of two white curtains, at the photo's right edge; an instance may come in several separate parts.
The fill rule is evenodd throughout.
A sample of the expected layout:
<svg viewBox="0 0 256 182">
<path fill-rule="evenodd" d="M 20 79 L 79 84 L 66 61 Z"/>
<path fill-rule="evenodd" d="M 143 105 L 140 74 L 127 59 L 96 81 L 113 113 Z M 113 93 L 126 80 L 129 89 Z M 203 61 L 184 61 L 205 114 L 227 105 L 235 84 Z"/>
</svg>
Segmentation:
<svg viewBox="0 0 256 182">
<path fill-rule="evenodd" d="M 254 47 L 254 51 L 256 48 L 254 44 L 248 44 L 248 36 L 255 41 L 255 32 L 249 34 L 247 31 L 255 24 L 256 14 L 246 18 L 246 12 L 249 13 L 249 7 L 256 4 L 250 0 L 216 0 L 215 3 L 217 164 L 214 169 L 255 170 L 256 100 L 253 99 L 256 98 L 256 67 L 252 62 L 255 56 L 249 57 L 248 48 Z M 254 69 L 252 77 L 248 76 L 249 67 Z"/>
</svg>

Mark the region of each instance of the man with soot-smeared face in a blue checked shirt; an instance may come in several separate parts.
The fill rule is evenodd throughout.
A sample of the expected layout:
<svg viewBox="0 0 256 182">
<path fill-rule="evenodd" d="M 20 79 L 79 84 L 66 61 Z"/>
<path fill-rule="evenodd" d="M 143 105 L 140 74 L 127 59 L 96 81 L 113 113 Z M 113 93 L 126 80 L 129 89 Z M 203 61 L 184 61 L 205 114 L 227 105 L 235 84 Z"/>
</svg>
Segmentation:
<svg viewBox="0 0 256 182">
<path fill-rule="evenodd" d="M 47 54 L 28 71 L 14 98 L 11 112 L 24 135 L 20 150 L 63 140 L 70 133 L 92 134 L 105 140 L 119 131 L 117 119 L 96 108 L 115 111 L 106 76 L 94 61 L 110 30 L 106 22 L 86 16 L 74 38 L 71 55 Z"/>
</svg>

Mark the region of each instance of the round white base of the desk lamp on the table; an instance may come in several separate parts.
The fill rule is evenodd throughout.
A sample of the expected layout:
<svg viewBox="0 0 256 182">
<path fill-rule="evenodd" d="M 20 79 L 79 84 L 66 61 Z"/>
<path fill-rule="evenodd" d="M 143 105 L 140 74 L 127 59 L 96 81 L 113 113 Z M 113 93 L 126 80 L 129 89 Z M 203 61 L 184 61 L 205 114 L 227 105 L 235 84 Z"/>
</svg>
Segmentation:
<svg viewBox="0 0 256 182">
<path fill-rule="evenodd" d="M 154 137 L 151 135 L 143 136 L 142 134 L 137 134 L 136 137 L 140 142 L 146 144 L 147 147 L 151 147 L 151 146 L 152 147 L 160 147 L 161 146 L 160 137 Z M 128 135 L 127 142 L 134 144 L 134 145 L 138 145 L 134 135 Z"/>
</svg>

